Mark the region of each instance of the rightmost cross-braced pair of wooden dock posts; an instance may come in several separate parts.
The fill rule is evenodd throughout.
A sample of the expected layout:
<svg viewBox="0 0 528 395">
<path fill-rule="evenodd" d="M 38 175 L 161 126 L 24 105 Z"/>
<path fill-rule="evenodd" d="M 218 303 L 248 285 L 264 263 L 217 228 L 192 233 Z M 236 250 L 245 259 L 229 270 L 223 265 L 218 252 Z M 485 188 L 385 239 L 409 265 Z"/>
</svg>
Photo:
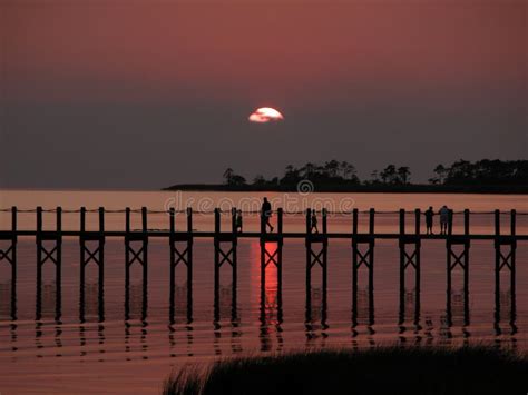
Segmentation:
<svg viewBox="0 0 528 395">
<path fill-rule="evenodd" d="M 510 235 L 500 234 L 500 211 L 495 210 L 495 315 L 496 325 L 500 322 L 500 273 L 509 270 L 510 283 L 510 325 L 516 320 L 516 210 L 510 210 Z M 506 249 L 506 253 L 502 250 Z"/>
</svg>

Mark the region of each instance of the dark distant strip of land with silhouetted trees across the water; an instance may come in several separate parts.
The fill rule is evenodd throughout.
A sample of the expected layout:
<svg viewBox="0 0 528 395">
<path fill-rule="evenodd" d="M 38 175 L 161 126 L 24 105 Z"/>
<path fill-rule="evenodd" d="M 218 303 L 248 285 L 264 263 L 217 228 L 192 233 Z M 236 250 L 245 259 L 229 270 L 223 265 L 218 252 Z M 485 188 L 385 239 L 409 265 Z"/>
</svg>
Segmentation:
<svg viewBox="0 0 528 395">
<path fill-rule="evenodd" d="M 346 161 L 323 165 L 286 166 L 282 177 L 257 175 L 248 182 L 231 168 L 223 184 L 177 184 L 164 190 L 195 191 L 303 191 L 303 192 L 409 192 L 409 194 L 528 194 L 528 160 L 458 160 L 438 165 L 429 184 L 412 184 L 407 166 L 388 165 L 360 180 L 355 167 Z"/>
</svg>

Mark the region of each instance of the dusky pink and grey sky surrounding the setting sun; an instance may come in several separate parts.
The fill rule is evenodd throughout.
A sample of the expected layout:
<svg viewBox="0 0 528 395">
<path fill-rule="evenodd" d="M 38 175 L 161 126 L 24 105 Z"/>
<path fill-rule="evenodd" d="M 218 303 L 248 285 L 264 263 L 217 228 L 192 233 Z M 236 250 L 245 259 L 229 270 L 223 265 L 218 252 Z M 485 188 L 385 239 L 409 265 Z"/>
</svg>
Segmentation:
<svg viewBox="0 0 528 395">
<path fill-rule="evenodd" d="M 525 0 L 2 0 L 0 45 L 2 188 L 528 157 Z"/>
</svg>

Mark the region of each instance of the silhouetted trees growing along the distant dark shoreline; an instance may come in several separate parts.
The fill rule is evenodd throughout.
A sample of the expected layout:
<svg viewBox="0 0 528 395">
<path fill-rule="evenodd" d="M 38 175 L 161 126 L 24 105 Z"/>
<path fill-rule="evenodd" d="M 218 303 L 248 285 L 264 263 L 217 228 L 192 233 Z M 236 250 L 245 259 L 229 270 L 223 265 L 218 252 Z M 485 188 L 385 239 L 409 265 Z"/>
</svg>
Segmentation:
<svg viewBox="0 0 528 395">
<path fill-rule="evenodd" d="M 307 162 L 302 167 L 286 166 L 282 177 L 266 179 L 256 175 L 250 182 L 232 168 L 224 171 L 224 184 L 229 187 L 251 186 L 255 188 L 294 188 L 301 180 L 310 180 L 317 186 L 409 186 L 409 166 L 388 165 L 374 170 L 370 179 L 361 180 L 354 165 L 348 161 L 330 160 L 324 164 Z M 432 186 L 527 186 L 528 160 L 457 160 L 450 166 L 442 164 L 433 169 L 429 178 Z"/>
</svg>

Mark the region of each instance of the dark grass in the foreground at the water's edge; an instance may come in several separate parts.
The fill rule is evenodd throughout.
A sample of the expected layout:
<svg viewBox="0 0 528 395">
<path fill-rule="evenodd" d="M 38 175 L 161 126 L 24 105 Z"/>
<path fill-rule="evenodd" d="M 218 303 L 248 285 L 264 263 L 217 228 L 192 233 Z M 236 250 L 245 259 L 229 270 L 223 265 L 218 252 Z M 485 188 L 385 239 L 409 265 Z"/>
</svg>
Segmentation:
<svg viewBox="0 0 528 395">
<path fill-rule="evenodd" d="M 187 367 L 164 394 L 527 394 L 528 358 L 487 347 L 292 353 Z"/>
</svg>

